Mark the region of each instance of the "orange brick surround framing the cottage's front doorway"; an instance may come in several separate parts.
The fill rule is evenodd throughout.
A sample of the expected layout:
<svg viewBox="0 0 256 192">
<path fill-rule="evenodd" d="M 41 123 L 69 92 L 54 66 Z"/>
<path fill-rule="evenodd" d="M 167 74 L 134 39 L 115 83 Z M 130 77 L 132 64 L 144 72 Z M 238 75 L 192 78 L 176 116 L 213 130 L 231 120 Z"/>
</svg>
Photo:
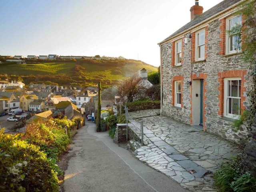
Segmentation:
<svg viewBox="0 0 256 192">
<path fill-rule="evenodd" d="M 204 80 L 203 121 L 204 121 L 204 131 L 205 131 L 206 130 L 206 125 L 205 125 L 205 122 L 206 122 L 206 104 L 205 104 L 205 101 L 206 101 L 206 85 L 207 85 L 206 78 L 207 78 L 207 74 L 200 73 L 198 77 L 196 76 L 196 74 L 192 74 L 191 78 L 192 78 L 192 80 L 195 80 L 195 79 L 203 79 Z M 190 124 L 193 124 L 193 120 L 192 120 L 192 86 L 190 88 Z"/>
</svg>

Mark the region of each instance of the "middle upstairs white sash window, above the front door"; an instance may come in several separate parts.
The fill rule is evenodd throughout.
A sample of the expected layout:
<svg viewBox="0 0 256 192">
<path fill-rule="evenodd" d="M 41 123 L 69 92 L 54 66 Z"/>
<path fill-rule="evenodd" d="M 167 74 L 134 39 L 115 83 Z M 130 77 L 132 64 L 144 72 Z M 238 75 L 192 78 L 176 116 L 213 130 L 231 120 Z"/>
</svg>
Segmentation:
<svg viewBox="0 0 256 192">
<path fill-rule="evenodd" d="M 196 33 L 196 60 L 204 60 L 205 30 Z"/>
</svg>

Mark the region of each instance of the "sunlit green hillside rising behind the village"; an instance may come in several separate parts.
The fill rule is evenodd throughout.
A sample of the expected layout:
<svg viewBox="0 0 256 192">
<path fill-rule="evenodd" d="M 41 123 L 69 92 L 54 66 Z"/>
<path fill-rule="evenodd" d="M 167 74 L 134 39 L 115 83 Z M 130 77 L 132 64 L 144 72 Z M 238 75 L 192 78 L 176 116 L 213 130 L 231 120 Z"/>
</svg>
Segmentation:
<svg viewBox="0 0 256 192">
<path fill-rule="evenodd" d="M 26 84 L 30 82 L 54 82 L 59 85 L 95 86 L 98 81 L 103 87 L 118 84 L 120 80 L 131 76 L 139 69 L 148 72 L 157 68 L 138 60 L 129 59 L 84 59 L 27 62 L 27 64 L 1 63 L 0 75 L 21 76 Z"/>
</svg>

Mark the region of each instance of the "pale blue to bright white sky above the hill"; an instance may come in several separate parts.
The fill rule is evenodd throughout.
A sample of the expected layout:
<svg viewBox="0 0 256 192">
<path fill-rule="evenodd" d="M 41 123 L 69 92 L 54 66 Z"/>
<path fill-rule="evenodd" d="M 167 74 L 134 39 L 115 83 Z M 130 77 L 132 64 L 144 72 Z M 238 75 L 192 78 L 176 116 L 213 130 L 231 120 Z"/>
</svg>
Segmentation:
<svg viewBox="0 0 256 192">
<path fill-rule="evenodd" d="M 204 11 L 222 0 L 199 0 Z M 158 43 L 194 0 L 1 0 L 0 55 L 123 56 L 160 65 Z"/>
</svg>

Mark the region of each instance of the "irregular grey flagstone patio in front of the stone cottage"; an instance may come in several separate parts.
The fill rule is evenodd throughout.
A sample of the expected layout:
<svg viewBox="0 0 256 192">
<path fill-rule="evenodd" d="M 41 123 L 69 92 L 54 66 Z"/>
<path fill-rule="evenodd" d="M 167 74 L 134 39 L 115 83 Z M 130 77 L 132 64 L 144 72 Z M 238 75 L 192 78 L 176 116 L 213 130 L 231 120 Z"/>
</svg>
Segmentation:
<svg viewBox="0 0 256 192">
<path fill-rule="evenodd" d="M 136 134 L 140 134 L 138 122 L 144 123 L 145 145 L 135 150 L 136 157 L 185 188 L 215 191 L 213 173 L 239 152 L 238 146 L 169 117 L 152 116 L 158 112 L 129 112 L 129 121 L 135 125 L 130 128 Z"/>
</svg>

